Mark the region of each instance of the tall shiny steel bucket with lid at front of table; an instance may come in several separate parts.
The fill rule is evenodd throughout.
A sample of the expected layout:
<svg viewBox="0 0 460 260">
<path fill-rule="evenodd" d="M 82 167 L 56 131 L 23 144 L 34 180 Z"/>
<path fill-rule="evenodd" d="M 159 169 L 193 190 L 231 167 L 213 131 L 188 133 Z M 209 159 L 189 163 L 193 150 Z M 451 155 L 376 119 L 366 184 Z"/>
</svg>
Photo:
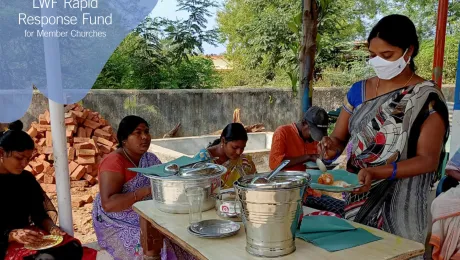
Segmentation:
<svg viewBox="0 0 460 260">
<path fill-rule="evenodd" d="M 267 174 L 257 176 L 263 175 Z M 267 184 L 250 184 L 253 178 L 245 176 L 234 185 L 246 229 L 246 251 L 261 257 L 294 252 L 302 198 L 310 175 L 285 171 Z"/>
</svg>

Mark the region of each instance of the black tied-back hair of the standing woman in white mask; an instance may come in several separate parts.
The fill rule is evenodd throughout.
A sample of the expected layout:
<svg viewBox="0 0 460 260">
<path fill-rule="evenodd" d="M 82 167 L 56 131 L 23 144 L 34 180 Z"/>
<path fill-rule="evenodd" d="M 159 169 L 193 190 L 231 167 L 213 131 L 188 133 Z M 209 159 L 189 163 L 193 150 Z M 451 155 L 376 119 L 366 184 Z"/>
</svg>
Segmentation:
<svg viewBox="0 0 460 260">
<path fill-rule="evenodd" d="M 387 43 L 406 51 L 410 46 L 414 47 L 409 67 L 415 71 L 414 58 L 418 55 L 420 43 L 414 23 L 404 15 L 392 14 L 382 18 L 372 28 L 367 43 L 370 44 L 374 38 L 380 38 Z"/>
</svg>

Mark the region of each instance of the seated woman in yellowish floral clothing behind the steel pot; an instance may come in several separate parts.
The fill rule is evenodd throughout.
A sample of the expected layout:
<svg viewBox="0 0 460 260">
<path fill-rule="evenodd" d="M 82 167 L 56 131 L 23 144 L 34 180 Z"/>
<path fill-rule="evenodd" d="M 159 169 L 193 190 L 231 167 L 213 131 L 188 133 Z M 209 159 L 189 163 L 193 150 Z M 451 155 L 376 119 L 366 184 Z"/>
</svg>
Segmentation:
<svg viewBox="0 0 460 260">
<path fill-rule="evenodd" d="M 195 158 L 213 160 L 227 168 L 227 173 L 222 175 L 222 188 L 233 187 L 233 183 L 240 177 L 248 174 L 255 174 L 256 166 L 251 156 L 244 155 L 244 148 L 248 141 L 248 134 L 244 126 L 239 123 L 231 123 L 222 131 L 221 137 L 209 144 L 208 148 L 202 149 L 195 155 Z M 188 254 L 181 247 L 164 239 L 165 249 L 163 260 L 193 260 L 194 257 Z"/>
</svg>

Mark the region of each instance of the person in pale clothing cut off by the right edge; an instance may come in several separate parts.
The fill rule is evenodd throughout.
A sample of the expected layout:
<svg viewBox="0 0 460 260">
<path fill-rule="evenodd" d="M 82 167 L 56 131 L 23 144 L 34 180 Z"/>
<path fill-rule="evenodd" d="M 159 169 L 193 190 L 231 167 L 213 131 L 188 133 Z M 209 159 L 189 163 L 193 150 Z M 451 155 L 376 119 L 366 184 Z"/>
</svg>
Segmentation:
<svg viewBox="0 0 460 260">
<path fill-rule="evenodd" d="M 433 259 L 460 259 L 460 150 L 446 166 L 443 188 L 431 205 Z M 446 185 L 447 184 L 447 185 Z M 448 186 L 448 187 L 446 187 Z"/>
</svg>

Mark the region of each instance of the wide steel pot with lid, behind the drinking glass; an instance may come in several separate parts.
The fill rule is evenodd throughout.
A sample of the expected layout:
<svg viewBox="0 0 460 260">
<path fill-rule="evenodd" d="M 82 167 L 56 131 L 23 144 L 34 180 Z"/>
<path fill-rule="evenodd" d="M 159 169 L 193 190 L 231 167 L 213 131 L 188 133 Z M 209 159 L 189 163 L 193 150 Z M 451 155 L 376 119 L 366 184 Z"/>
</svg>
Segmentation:
<svg viewBox="0 0 460 260">
<path fill-rule="evenodd" d="M 215 196 L 220 192 L 221 176 L 227 169 L 212 163 L 199 163 L 181 168 L 177 175 L 159 177 L 146 175 L 150 178 L 152 197 L 155 207 L 167 213 L 188 213 L 189 202 L 185 189 L 202 187 L 204 189 L 203 211 L 214 208 Z"/>
</svg>

